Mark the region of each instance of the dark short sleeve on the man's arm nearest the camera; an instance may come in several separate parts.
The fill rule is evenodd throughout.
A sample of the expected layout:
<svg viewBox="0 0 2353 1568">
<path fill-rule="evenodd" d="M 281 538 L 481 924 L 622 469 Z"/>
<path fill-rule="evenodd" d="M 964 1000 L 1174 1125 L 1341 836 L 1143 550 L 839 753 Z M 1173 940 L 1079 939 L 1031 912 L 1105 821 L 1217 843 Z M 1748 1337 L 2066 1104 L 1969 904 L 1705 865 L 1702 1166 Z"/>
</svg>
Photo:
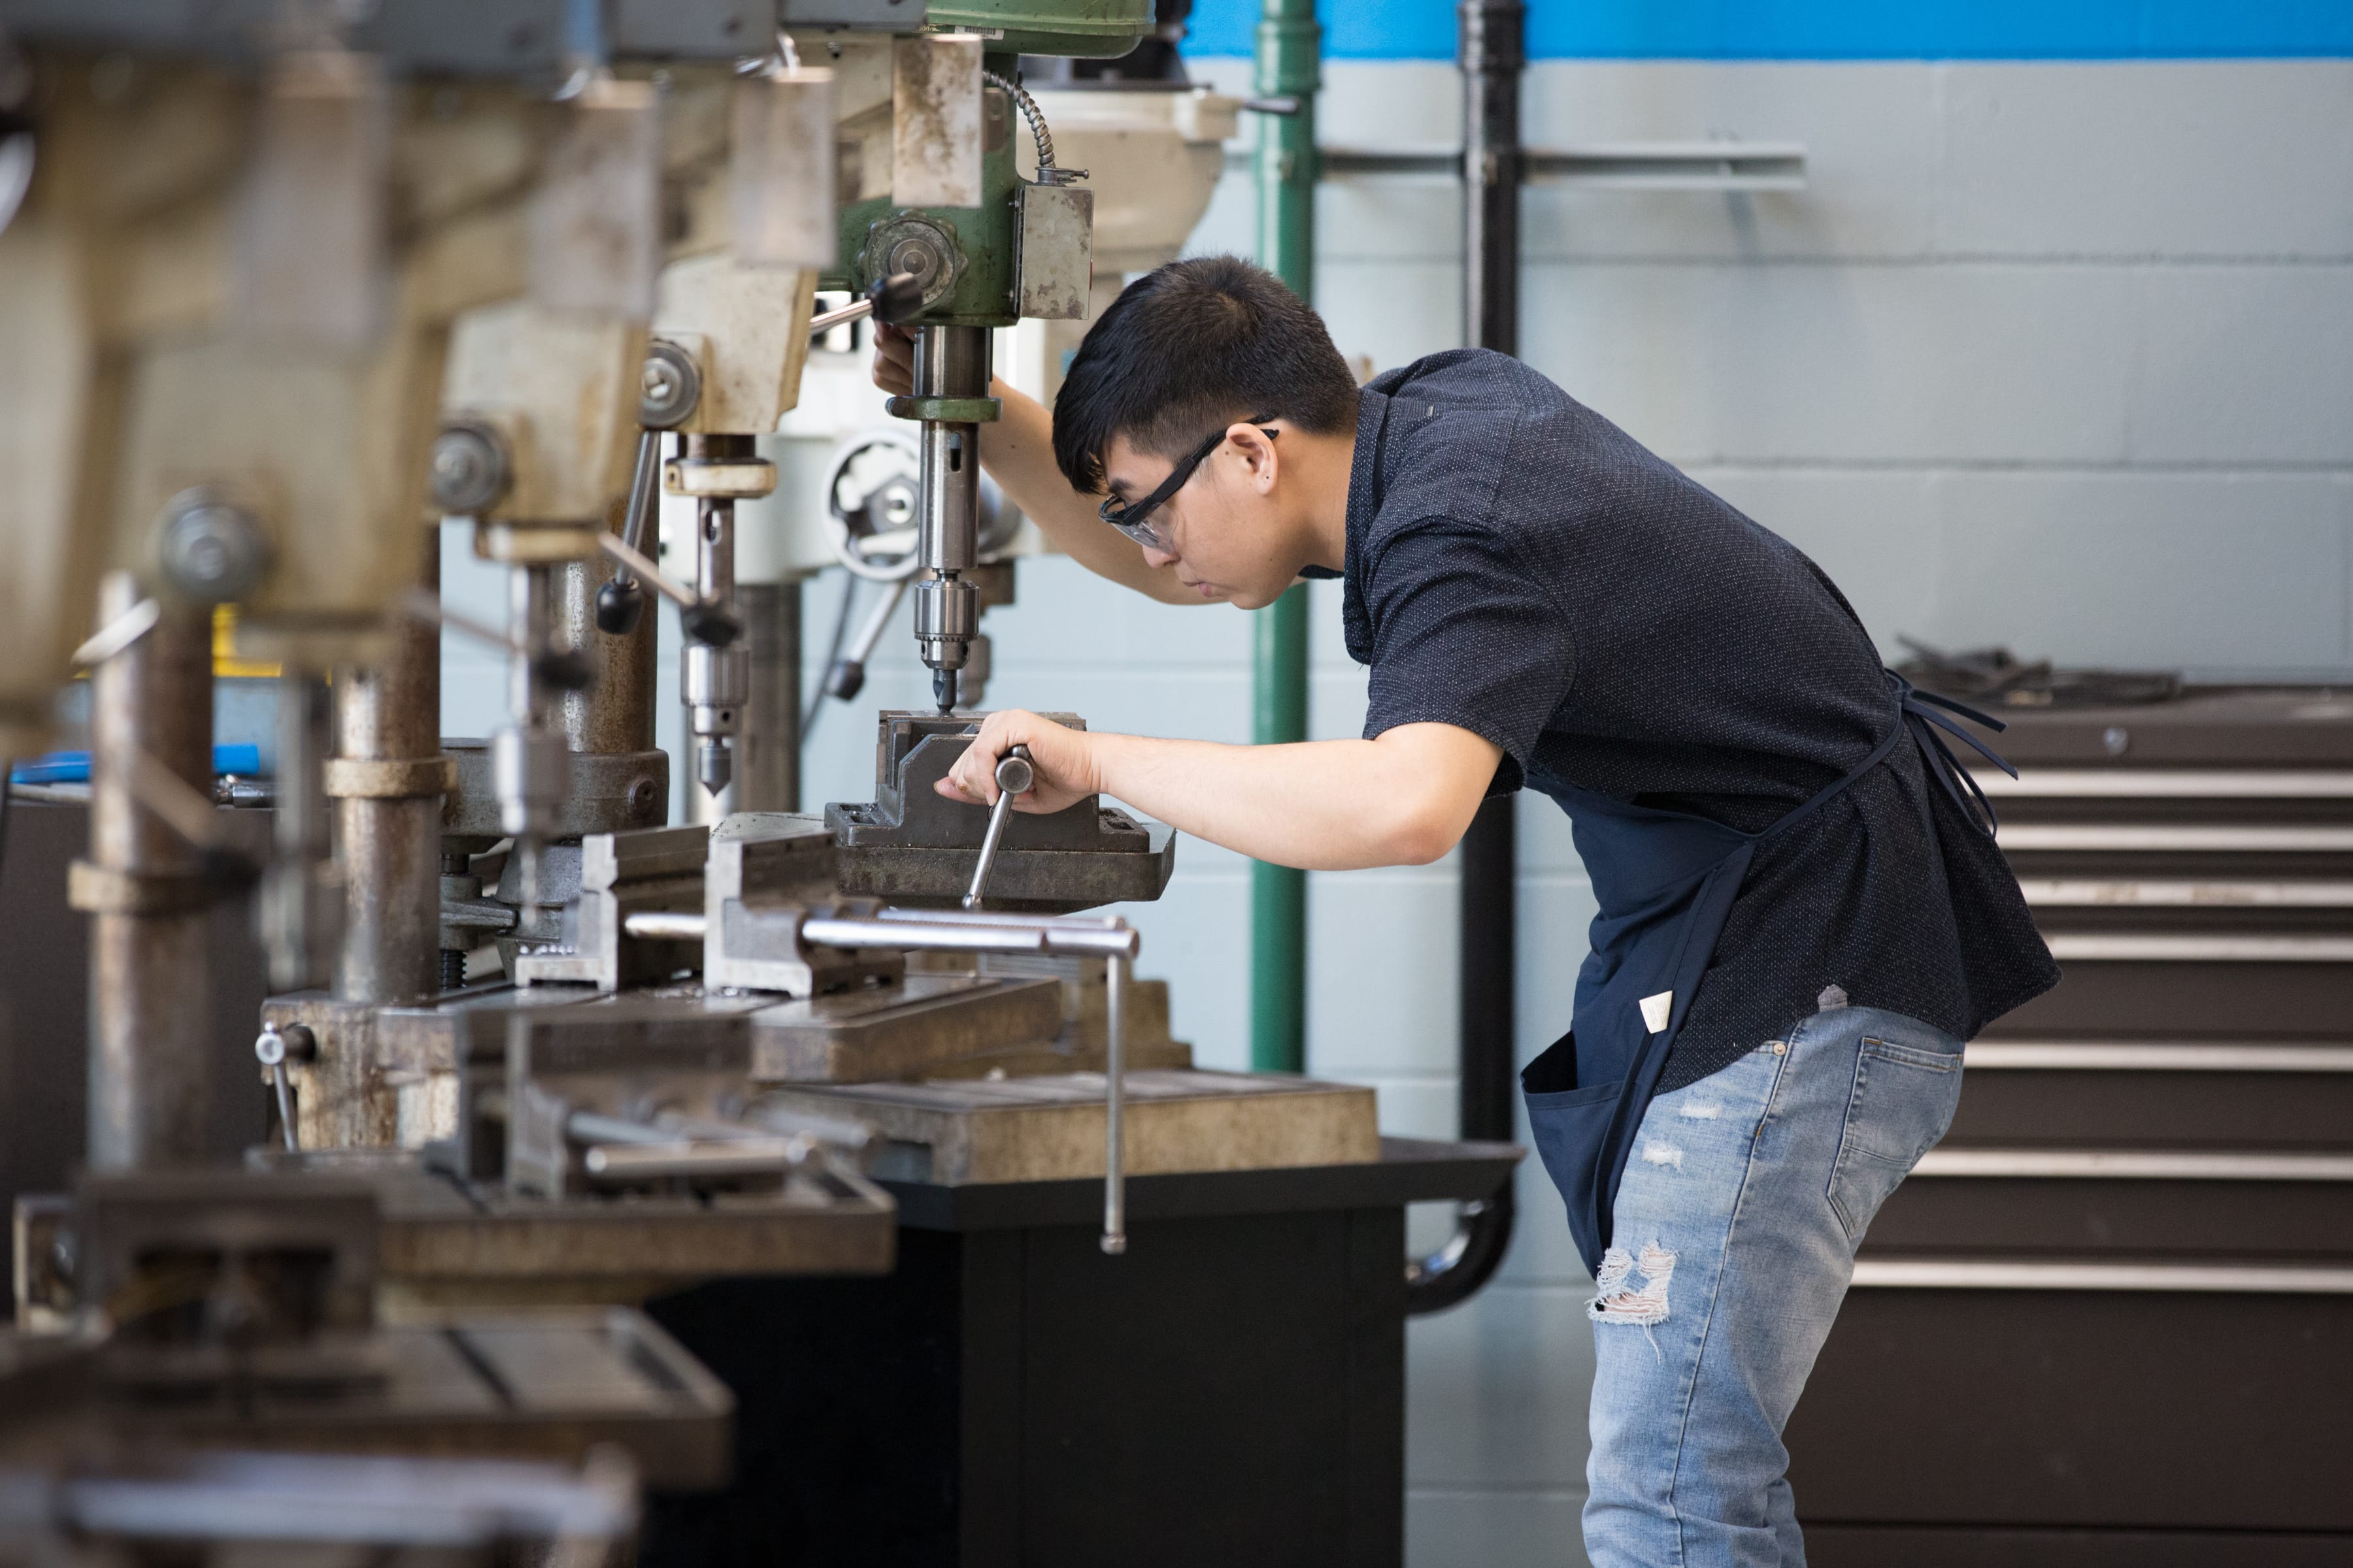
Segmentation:
<svg viewBox="0 0 2353 1568">
<path fill-rule="evenodd" d="M 1367 564 L 1365 738 L 1400 724 L 1468 729 L 1504 748 L 1489 795 L 1518 790 L 1577 672 L 1558 602 L 1478 524 L 1407 524 Z"/>
</svg>

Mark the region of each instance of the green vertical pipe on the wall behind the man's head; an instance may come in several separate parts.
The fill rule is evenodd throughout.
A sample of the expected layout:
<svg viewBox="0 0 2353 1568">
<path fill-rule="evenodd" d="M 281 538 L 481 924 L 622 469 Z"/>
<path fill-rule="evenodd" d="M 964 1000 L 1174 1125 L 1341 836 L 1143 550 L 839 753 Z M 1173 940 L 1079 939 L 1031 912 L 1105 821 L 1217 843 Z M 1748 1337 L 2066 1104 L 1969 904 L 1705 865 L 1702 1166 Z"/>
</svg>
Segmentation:
<svg viewBox="0 0 2353 1568">
<path fill-rule="evenodd" d="M 1294 99 L 1299 113 L 1259 115 L 1259 263 L 1315 299 L 1315 89 L 1322 28 L 1315 0 L 1266 0 L 1259 21 L 1259 96 Z M 1292 588 L 1259 611 L 1252 649 L 1252 741 L 1308 738 L 1308 599 Z M 1249 1065 L 1304 1072 L 1308 1058 L 1308 877 L 1287 865 L 1249 867 Z"/>
</svg>

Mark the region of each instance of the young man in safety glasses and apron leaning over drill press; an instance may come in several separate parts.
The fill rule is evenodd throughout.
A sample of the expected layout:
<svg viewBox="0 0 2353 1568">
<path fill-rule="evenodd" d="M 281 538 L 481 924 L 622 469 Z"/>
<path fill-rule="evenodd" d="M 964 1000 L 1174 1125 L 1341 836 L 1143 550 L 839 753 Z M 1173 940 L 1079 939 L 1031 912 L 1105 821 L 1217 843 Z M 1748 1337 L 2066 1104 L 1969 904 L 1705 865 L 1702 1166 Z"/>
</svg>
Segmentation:
<svg viewBox="0 0 2353 1568">
<path fill-rule="evenodd" d="M 875 378 L 906 390 L 901 336 Z M 1308 870 L 1558 799 L 1600 917 L 1522 1086 L 1598 1281 L 1586 1547 L 1802 1563 L 1781 1427 L 1854 1248 L 1944 1135 L 1962 1041 L 2057 980 L 1962 731 L 1809 559 L 1537 371 L 1457 350 L 1358 390 L 1242 261 L 1129 284 L 1052 416 L 993 390 L 981 461 L 1059 548 L 1172 604 L 1344 578 L 1372 701 L 1362 741 L 1261 748 L 995 712 L 944 792 L 993 802 L 1024 743 L 1021 809 L 1099 790 Z"/>
</svg>

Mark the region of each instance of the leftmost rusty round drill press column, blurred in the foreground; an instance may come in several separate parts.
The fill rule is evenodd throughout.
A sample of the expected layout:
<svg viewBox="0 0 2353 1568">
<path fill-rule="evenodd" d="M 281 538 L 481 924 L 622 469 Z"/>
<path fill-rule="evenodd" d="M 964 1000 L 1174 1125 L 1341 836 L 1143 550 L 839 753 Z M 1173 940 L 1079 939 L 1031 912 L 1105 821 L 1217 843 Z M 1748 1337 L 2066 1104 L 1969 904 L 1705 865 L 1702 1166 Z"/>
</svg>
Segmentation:
<svg viewBox="0 0 2353 1568">
<path fill-rule="evenodd" d="M 139 602 L 118 574 L 99 623 Z M 212 799 L 212 618 L 165 609 L 89 677 L 89 1168 L 141 1171 L 205 1154 L 212 1110 L 212 903 L 198 849 L 139 804 L 139 755 Z"/>
</svg>

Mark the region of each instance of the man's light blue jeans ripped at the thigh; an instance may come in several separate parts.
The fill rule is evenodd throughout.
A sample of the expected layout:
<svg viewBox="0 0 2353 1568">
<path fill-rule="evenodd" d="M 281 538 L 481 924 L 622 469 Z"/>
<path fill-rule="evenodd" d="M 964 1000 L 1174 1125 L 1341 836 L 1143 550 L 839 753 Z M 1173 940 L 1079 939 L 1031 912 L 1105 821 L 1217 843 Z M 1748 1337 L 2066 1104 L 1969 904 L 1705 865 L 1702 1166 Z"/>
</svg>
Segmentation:
<svg viewBox="0 0 2353 1568">
<path fill-rule="evenodd" d="M 1649 1103 L 1593 1319 L 1593 1568 L 1802 1568 L 1781 1427 L 1962 1041 L 1831 1006 Z"/>
</svg>

